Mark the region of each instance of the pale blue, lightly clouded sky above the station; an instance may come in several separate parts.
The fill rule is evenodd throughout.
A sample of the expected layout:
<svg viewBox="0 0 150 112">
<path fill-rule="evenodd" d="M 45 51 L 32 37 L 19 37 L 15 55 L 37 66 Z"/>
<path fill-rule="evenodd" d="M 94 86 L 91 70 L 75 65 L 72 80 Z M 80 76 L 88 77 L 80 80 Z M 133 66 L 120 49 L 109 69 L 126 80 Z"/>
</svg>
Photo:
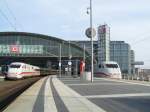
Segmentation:
<svg viewBox="0 0 150 112">
<path fill-rule="evenodd" d="M 94 28 L 108 24 L 111 40 L 129 43 L 135 60 L 150 68 L 150 0 L 92 1 Z M 88 7 L 89 0 L 0 0 L 0 31 L 88 40 Z"/>
</svg>

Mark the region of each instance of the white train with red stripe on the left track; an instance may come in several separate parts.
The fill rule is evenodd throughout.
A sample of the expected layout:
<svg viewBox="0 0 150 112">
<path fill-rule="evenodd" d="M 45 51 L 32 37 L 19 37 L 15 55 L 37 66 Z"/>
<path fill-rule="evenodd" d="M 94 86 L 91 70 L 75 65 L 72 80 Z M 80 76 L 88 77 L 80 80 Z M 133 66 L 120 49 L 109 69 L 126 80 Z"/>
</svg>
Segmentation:
<svg viewBox="0 0 150 112">
<path fill-rule="evenodd" d="M 8 67 L 8 79 L 21 79 L 31 76 L 39 76 L 40 68 L 26 63 L 13 62 Z"/>
</svg>

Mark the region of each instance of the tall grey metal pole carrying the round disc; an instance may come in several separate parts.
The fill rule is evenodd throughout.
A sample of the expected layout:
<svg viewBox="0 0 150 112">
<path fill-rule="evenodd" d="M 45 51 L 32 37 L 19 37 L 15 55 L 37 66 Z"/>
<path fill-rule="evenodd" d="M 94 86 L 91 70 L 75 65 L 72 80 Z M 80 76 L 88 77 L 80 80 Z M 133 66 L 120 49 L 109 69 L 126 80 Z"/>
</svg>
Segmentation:
<svg viewBox="0 0 150 112">
<path fill-rule="evenodd" d="M 93 23 L 92 23 L 92 0 L 90 0 L 90 27 L 91 27 L 91 82 L 93 82 Z"/>
</svg>

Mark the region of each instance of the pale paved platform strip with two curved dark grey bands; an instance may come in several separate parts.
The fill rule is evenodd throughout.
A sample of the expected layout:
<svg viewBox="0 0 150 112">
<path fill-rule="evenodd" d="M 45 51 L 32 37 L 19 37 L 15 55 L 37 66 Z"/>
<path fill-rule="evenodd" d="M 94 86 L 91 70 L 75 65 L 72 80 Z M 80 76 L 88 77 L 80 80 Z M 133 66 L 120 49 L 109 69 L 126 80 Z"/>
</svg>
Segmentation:
<svg viewBox="0 0 150 112">
<path fill-rule="evenodd" d="M 44 77 L 16 98 L 4 112 L 105 112 L 56 76 Z"/>
</svg>

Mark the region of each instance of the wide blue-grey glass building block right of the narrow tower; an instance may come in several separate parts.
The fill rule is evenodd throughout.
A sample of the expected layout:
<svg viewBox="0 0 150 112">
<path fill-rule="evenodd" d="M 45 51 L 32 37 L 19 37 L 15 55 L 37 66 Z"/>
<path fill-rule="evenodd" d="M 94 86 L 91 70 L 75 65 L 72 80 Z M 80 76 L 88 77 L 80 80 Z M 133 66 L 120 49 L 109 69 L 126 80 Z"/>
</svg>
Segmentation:
<svg viewBox="0 0 150 112">
<path fill-rule="evenodd" d="M 110 60 L 118 62 L 122 73 L 131 74 L 131 48 L 129 44 L 124 41 L 111 41 Z"/>
</svg>

